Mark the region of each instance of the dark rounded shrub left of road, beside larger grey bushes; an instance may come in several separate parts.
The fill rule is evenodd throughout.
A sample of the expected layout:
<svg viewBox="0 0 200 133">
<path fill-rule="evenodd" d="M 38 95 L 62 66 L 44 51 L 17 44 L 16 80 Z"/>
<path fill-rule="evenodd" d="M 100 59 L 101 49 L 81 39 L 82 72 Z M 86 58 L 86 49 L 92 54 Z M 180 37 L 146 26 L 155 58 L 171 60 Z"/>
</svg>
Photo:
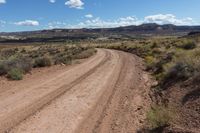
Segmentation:
<svg viewBox="0 0 200 133">
<path fill-rule="evenodd" d="M 52 60 L 49 57 L 41 57 L 35 59 L 34 62 L 34 67 L 46 67 L 46 66 L 51 66 L 52 65 Z"/>
</svg>

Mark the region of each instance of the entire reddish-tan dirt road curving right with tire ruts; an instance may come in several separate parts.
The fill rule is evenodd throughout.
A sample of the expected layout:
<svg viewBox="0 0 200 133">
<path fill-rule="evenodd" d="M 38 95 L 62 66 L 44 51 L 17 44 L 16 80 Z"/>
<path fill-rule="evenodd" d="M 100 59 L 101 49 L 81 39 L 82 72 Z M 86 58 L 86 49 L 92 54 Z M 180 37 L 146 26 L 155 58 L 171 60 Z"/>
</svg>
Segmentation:
<svg viewBox="0 0 200 133">
<path fill-rule="evenodd" d="M 114 50 L 0 85 L 0 132 L 133 133 L 149 100 L 140 60 Z"/>
</svg>

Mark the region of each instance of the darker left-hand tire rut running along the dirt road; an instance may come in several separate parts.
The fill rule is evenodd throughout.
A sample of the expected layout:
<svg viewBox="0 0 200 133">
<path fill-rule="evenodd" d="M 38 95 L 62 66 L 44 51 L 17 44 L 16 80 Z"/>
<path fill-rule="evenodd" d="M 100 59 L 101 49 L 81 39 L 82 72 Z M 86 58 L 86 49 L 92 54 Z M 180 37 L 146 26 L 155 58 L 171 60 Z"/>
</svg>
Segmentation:
<svg viewBox="0 0 200 133">
<path fill-rule="evenodd" d="M 105 64 L 105 62 L 110 58 L 110 53 L 106 50 L 106 56 L 100 61 L 99 64 L 97 64 L 94 68 L 77 78 L 75 81 L 71 82 L 70 84 L 64 85 L 49 94 L 43 96 L 40 99 L 34 100 L 31 104 L 28 106 L 24 106 L 22 108 L 13 110 L 11 113 L 2 116 L 0 115 L 0 132 L 7 131 L 11 127 L 15 126 L 16 124 L 20 123 L 23 121 L 25 118 L 28 116 L 32 115 L 39 109 L 41 109 L 43 106 L 54 100 L 55 98 L 59 97 L 62 95 L 64 92 L 68 91 L 70 88 L 72 88 L 74 85 L 79 83 L 80 81 L 84 80 L 87 76 L 92 74 L 98 67 L 102 66 Z M 14 102 L 14 101 L 13 101 Z M 2 107 L 1 107 L 2 108 Z"/>
</svg>

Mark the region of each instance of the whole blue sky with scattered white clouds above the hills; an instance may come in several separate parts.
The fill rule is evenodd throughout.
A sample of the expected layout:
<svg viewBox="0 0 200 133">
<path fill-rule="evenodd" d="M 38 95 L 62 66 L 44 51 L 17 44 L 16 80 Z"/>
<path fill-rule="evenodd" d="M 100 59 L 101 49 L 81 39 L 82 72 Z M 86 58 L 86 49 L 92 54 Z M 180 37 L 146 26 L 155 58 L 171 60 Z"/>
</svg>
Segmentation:
<svg viewBox="0 0 200 133">
<path fill-rule="evenodd" d="M 142 23 L 199 25 L 200 0 L 0 0 L 0 32 Z"/>
</svg>

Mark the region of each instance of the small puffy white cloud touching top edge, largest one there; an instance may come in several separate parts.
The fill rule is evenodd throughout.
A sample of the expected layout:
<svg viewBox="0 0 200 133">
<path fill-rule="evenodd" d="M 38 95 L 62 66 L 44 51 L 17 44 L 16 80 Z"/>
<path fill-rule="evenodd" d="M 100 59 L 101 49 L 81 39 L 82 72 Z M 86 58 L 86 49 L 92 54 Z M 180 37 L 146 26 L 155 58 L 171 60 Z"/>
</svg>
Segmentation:
<svg viewBox="0 0 200 133">
<path fill-rule="evenodd" d="M 84 3 L 82 0 L 68 0 L 65 2 L 65 5 L 69 6 L 70 8 L 83 9 Z"/>
</svg>

